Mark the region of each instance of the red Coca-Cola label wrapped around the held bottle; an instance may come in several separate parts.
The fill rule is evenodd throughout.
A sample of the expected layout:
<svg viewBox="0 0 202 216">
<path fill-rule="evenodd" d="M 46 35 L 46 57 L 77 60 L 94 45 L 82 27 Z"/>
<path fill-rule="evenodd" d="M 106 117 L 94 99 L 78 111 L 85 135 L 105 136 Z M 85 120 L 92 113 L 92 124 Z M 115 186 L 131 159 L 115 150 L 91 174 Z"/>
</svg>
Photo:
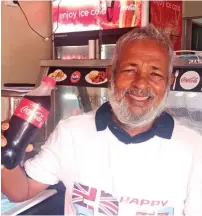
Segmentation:
<svg viewBox="0 0 202 216">
<path fill-rule="evenodd" d="M 41 128 L 48 117 L 49 111 L 40 104 L 23 98 L 16 108 L 14 115 Z"/>
</svg>

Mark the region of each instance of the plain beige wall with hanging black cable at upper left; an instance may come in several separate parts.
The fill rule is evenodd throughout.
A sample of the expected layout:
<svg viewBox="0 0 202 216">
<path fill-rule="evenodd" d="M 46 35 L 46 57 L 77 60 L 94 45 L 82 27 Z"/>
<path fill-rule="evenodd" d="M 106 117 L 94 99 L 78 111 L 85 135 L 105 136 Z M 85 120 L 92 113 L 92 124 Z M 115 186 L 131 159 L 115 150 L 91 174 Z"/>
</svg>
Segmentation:
<svg viewBox="0 0 202 216">
<path fill-rule="evenodd" d="M 35 83 L 41 59 L 50 59 L 51 41 L 45 42 L 28 26 L 19 7 L 2 7 L 2 84 Z M 31 26 L 43 36 L 51 33 L 51 4 L 47 1 L 20 1 Z"/>
</svg>

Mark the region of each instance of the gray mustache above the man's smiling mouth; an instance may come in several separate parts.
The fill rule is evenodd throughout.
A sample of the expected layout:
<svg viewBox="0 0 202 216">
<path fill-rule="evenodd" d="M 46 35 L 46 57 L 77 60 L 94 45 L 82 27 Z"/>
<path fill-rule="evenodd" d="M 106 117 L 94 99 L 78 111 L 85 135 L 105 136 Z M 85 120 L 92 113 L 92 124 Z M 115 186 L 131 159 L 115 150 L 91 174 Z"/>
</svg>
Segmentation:
<svg viewBox="0 0 202 216">
<path fill-rule="evenodd" d="M 125 89 L 122 91 L 122 96 L 124 97 L 126 94 L 140 96 L 140 97 L 150 97 L 152 99 L 156 97 L 156 94 L 149 89 L 138 89 L 138 88 Z"/>
</svg>

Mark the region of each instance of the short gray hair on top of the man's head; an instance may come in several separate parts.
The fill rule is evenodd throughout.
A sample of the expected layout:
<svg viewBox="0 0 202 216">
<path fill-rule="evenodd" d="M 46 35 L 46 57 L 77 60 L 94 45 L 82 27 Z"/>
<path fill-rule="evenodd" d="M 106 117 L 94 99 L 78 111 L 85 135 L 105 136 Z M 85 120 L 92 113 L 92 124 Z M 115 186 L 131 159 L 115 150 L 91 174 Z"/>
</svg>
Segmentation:
<svg viewBox="0 0 202 216">
<path fill-rule="evenodd" d="M 122 37 L 119 38 L 118 42 L 116 43 L 116 47 L 112 57 L 112 79 L 114 78 L 118 57 L 122 51 L 123 46 L 128 42 L 147 39 L 158 41 L 159 43 L 164 44 L 167 47 L 170 59 L 168 72 L 169 75 L 172 74 L 174 55 L 172 43 L 166 33 L 158 30 L 153 25 L 149 24 L 146 27 L 134 28 L 132 31 L 124 34 Z"/>
</svg>

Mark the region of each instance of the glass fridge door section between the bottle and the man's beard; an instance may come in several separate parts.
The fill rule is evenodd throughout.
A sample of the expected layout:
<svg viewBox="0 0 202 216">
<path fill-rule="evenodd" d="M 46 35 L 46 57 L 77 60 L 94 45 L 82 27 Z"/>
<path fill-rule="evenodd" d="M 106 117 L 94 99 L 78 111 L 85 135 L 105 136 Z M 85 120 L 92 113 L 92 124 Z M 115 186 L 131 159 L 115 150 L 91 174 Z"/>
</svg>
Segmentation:
<svg viewBox="0 0 202 216">
<path fill-rule="evenodd" d="M 100 107 L 107 101 L 107 88 L 60 86 L 53 92 L 52 101 L 47 125 L 49 134 L 61 119 Z"/>
</svg>

